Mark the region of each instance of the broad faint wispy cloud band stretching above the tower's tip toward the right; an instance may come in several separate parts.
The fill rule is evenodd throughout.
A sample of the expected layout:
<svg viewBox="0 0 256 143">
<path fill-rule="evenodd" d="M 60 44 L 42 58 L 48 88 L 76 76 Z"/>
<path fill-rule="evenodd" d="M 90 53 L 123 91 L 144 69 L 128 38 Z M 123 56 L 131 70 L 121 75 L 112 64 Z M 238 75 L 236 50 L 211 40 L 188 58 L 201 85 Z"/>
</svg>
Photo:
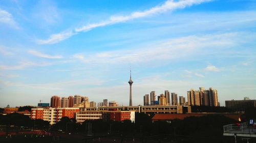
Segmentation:
<svg viewBox="0 0 256 143">
<path fill-rule="evenodd" d="M 73 55 L 83 63 L 142 63 L 162 60 L 180 60 L 199 54 L 199 49 L 230 47 L 239 41 L 234 41 L 238 34 L 212 34 L 204 36 L 187 36 L 169 39 L 160 44 L 152 44 L 151 47 L 130 50 L 113 50 L 96 54 L 77 53 Z M 202 50 L 203 51 L 203 50 Z M 150 57 L 150 58 L 149 58 Z M 193 57 L 194 59 L 194 57 Z"/>
</svg>

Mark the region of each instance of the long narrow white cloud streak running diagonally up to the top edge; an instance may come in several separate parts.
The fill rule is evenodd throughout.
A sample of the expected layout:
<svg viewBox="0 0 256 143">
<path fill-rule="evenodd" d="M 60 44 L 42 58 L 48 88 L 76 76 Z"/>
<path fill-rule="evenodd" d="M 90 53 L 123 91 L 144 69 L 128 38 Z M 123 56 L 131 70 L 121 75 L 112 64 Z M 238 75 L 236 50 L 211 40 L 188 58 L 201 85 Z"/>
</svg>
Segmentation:
<svg viewBox="0 0 256 143">
<path fill-rule="evenodd" d="M 69 33 L 62 32 L 59 34 L 53 34 L 47 40 L 37 40 L 37 43 L 38 44 L 54 44 L 54 43 L 60 42 L 62 40 L 68 39 L 71 36 L 75 35 L 76 33 L 87 32 L 96 27 L 102 27 L 102 26 L 106 26 L 106 25 L 119 23 L 119 22 L 125 22 L 128 20 L 136 19 L 136 18 L 141 18 L 141 17 L 146 17 L 146 16 L 150 16 L 150 15 L 154 15 L 154 14 L 163 13 L 166 11 L 174 11 L 177 9 L 184 9 L 186 7 L 198 5 L 198 4 L 201 4 L 204 2 L 209 2 L 209 1 L 210 0 L 183 0 L 183 1 L 178 1 L 178 2 L 166 1 L 164 4 L 162 4 L 160 6 L 153 7 L 149 10 L 145 10 L 142 12 L 133 12 L 130 15 L 126 15 L 126 16 L 111 16 L 108 20 L 105 20 L 103 22 L 98 22 L 98 23 L 87 24 L 87 25 L 75 28 L 74 31 L 71 31 Z"/>
</svg>

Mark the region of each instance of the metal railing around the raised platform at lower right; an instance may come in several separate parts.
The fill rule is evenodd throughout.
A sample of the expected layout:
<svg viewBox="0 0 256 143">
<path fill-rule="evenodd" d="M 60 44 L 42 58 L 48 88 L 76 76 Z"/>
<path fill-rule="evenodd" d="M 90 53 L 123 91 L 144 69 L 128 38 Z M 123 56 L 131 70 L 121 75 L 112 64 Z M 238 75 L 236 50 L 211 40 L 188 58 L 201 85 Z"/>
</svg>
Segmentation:
<svg viewBox="0 0 256 143">
<path fill-rule="evenodd" d="M 241 123 L 240 126 L 237 124 L 229 124 L 223 126 L 224 133 L 241 133 L 241 134 L 256 134 L 256 127 L 248 126 L 248 124 Z"/>
</svg>

